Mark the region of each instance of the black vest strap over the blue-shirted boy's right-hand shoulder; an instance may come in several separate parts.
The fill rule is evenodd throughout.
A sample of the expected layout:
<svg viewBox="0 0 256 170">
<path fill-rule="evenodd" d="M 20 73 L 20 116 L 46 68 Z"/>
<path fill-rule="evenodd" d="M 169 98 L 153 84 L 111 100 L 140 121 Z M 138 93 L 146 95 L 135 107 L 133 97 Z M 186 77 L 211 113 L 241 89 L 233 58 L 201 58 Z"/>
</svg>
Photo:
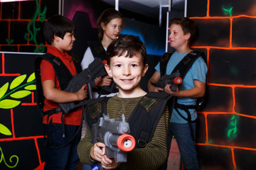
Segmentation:
<svg viewBox="0 0 256 170">
<path fill-rule="evenodd" d="M 172 73 L 177 72 L 178 70 L 178 72 L 181 74 L 181 78 L 183 79 L 186 76 L 186 73 L 188 72 L 188 70 L 192 67 L 193 62 L 195 62 L 196 59 L 198 59 L 198 57 L 201 57 L 203 55 L 204 53 L 199 51 L 189 52 L 188 55 L 183 57 L 181 62 L 179 62 L 176 65 Z"/>
</svg>

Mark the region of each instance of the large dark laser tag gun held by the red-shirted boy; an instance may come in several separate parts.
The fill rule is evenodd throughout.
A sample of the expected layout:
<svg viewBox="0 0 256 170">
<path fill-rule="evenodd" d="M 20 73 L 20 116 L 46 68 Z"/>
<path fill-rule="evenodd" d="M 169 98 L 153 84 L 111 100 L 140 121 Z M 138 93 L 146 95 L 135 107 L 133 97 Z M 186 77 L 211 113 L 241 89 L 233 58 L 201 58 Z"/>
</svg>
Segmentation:
<svg viewBox="0 0 256 170">
<path fill-rule="evenodd" d="M 76 74 L 73 79 L 70 80 L 64 91 L 75 93 L 76 91 L 80 90 L 83 85 L 87 84 L 88 97 L 91 99 L 92 86 L 95 84 L 95 79 L 97 77 L 104 77 L 106 75 L 107 72 L 105 70 L 105 63 L 103 63 L 100 58 L 95 57 L 95 60 L 89 64 L 87 69 L 82 70 L 80 74 Z M 114 89 L 114 85 L 111 85 L 110 88 Z M 78 108 L 85 105 L 87 101 L 88 100 L 85 99 L 83 101 L 59 103 L 59 106 L 63 113 L 68 113 L 73 108 Z"/>
</svg>

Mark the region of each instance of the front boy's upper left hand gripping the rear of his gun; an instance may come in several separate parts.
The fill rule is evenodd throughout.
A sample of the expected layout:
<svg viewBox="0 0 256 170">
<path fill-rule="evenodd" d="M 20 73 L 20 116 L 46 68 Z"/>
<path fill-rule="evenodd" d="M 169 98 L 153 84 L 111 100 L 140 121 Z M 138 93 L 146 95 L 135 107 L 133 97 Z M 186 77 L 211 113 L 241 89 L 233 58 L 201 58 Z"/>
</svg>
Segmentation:
<svg viewBox="0 0 256 170">
<path fill-rule="evenodd" d="M 101 162 L 102 157 L 105 154 L 105 144 L 102 142 L 97 142 L 93 147 L 90 149 L 90 157 L 97 162 Z"/>
</svg>

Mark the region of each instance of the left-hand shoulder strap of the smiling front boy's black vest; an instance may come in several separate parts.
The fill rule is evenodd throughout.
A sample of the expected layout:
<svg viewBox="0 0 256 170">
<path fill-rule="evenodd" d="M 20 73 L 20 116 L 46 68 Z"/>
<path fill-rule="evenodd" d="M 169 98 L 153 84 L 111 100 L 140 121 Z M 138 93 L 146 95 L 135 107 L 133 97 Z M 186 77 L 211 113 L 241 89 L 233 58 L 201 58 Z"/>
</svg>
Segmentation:
<svg viewBox="0 0 256 170">
<path fill-rule="evenodd" d="M 90 99 L 86 106 L 82 108 L 82 115 L 85 119 L 85 124 L 92 132 L 92 125 L 97 123 L 97 120 L 106 114 L 107 111 L 107 101 L 110 97 L 102 97 Z"/>
</svg>

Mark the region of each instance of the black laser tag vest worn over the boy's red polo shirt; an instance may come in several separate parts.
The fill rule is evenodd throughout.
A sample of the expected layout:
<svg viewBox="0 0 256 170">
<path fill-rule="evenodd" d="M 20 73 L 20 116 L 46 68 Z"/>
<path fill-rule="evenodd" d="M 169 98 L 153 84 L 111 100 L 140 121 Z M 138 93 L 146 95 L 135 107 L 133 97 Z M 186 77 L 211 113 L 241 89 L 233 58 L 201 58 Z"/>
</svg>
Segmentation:
<svg viewBox="0 0 256 170">
<path fill-rule="evenodd" d="M 43 88 L 41 84 L 41 73 L 40 73 L 40 64 L 41 64 L 41 60 L 43 59 L 47 60 L 48 62 L 50 62 L 50 64 L 53 65 L 53 69 L 55 70 L 55 74 L 58 77 L 61 90 L 64 90 L 65 87 L 68 86 L 68 82 L 73 78 L 72 74 L 68 70 L 68 67 L 66 67 L 65 64 L 63 64 L 60 58 L 55 57 L 50 53 L 36 57 L 36 60 L 34 61 L 34 68 L 35 68 L 35 75 L 36 75 L 36 89 L 38 91 L 37 104 L 41 113 L 43 113 L 43 105 L 44 105 L 44 99 L 45 99 L 45 97 L 43 96 Z M 77 73 L 80 73 L 82 69 L 81 69 L 78 57 L 73 56 L 73 62 L 75 64 L 75 69 Z M 55 110 L 54 111 L 51 110 L 51 111 L 48 111 L 47 113 L 43 113 L 43 115 L 50 114 L 51 112 L 56 113 Z M 57 112 L 59 113 L 60 109 Z"/>
</svg>

